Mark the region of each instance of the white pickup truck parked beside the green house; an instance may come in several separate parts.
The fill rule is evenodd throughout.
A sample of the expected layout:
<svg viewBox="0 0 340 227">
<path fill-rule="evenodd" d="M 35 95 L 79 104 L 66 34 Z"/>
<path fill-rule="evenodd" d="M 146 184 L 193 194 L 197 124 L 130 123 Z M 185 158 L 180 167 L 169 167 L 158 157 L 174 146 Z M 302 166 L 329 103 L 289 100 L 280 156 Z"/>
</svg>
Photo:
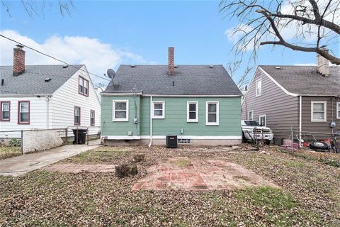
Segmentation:
<svg viewBox="0 0 340 227">
<path fill-rule="evenodd" d="M 242 126 L 242 142 L 245 143 L 247 140 L 255 139 L 255 128 L 256 128 L 256 139 L 264 140 L 266 144 L 271 143 L 273 139 L 273 132 L 271 128 L 260 126 L 256 121 L 241 121 Z"/>
</svg>

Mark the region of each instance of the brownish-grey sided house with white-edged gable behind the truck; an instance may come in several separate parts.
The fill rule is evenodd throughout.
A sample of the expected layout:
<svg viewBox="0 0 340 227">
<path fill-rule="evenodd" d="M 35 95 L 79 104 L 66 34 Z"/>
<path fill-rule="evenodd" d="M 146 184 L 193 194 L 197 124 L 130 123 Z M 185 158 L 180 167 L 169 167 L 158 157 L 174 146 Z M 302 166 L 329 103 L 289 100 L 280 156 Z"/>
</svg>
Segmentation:
<svg viewBox="0 0 340 227">
<path fill-rule="evenodd" d="M 272 128 L 276 144 L 287 138 L 278 131 L 291 127 L 340 131 L 340 67 L 259 65 L 242 102 L 242 119 Z"/>
</svg>

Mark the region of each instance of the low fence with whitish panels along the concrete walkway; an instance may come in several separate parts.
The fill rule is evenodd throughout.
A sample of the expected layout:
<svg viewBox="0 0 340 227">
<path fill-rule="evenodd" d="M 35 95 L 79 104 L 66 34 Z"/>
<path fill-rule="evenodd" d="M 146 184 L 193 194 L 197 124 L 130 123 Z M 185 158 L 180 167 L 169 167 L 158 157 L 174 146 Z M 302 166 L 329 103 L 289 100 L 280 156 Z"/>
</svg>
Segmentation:
<svg viewBox="0 0 340 227">
<path fill-rule="evenodd" d="M 83 132 L 84 137 L 79 136 Z M 74 133 L 76 135 L 74 135 Z M 13 156 L 74 144 L 89 145 L 89 140 L 100 138 L 99 127 L 74 127 L 34 129 L 25 131 L 0 131 L 0 156 Z M 80 140 L 81 139 L 81 140 Z M 8 155 L 6 155 L 8 153 Z M 10 155 L 12 154 L 12 155 Z"/>
</svg>

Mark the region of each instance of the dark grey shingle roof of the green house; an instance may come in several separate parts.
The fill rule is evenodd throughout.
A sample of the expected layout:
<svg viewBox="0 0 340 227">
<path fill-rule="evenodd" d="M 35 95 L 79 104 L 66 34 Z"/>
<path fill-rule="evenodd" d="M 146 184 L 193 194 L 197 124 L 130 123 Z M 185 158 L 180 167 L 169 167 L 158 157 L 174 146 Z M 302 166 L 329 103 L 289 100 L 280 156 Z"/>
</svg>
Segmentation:
<svg viewBox="0 0 340 227">
<path fill-rule="evenodd" d="M 171 76 L 168 65 L 120 65 L 103 93 L 131 93 L 135 86 L 143 94 L 242 95 L 222 65 L 178 65 Z"/>
</svg>

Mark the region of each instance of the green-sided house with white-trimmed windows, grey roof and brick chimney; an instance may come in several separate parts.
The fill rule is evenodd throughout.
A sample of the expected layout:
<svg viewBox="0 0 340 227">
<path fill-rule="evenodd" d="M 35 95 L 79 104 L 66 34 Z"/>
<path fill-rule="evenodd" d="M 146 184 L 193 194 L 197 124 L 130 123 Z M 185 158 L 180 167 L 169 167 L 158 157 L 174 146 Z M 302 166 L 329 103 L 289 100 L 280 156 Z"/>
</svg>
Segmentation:
<svg viewBox="0 0 340 227">
<path fill-rule="evenodd" d="M 101 93 L 106 145 L 241 143 L 241 96 L 222 65 L 120 65 Z"/>
</svg>

